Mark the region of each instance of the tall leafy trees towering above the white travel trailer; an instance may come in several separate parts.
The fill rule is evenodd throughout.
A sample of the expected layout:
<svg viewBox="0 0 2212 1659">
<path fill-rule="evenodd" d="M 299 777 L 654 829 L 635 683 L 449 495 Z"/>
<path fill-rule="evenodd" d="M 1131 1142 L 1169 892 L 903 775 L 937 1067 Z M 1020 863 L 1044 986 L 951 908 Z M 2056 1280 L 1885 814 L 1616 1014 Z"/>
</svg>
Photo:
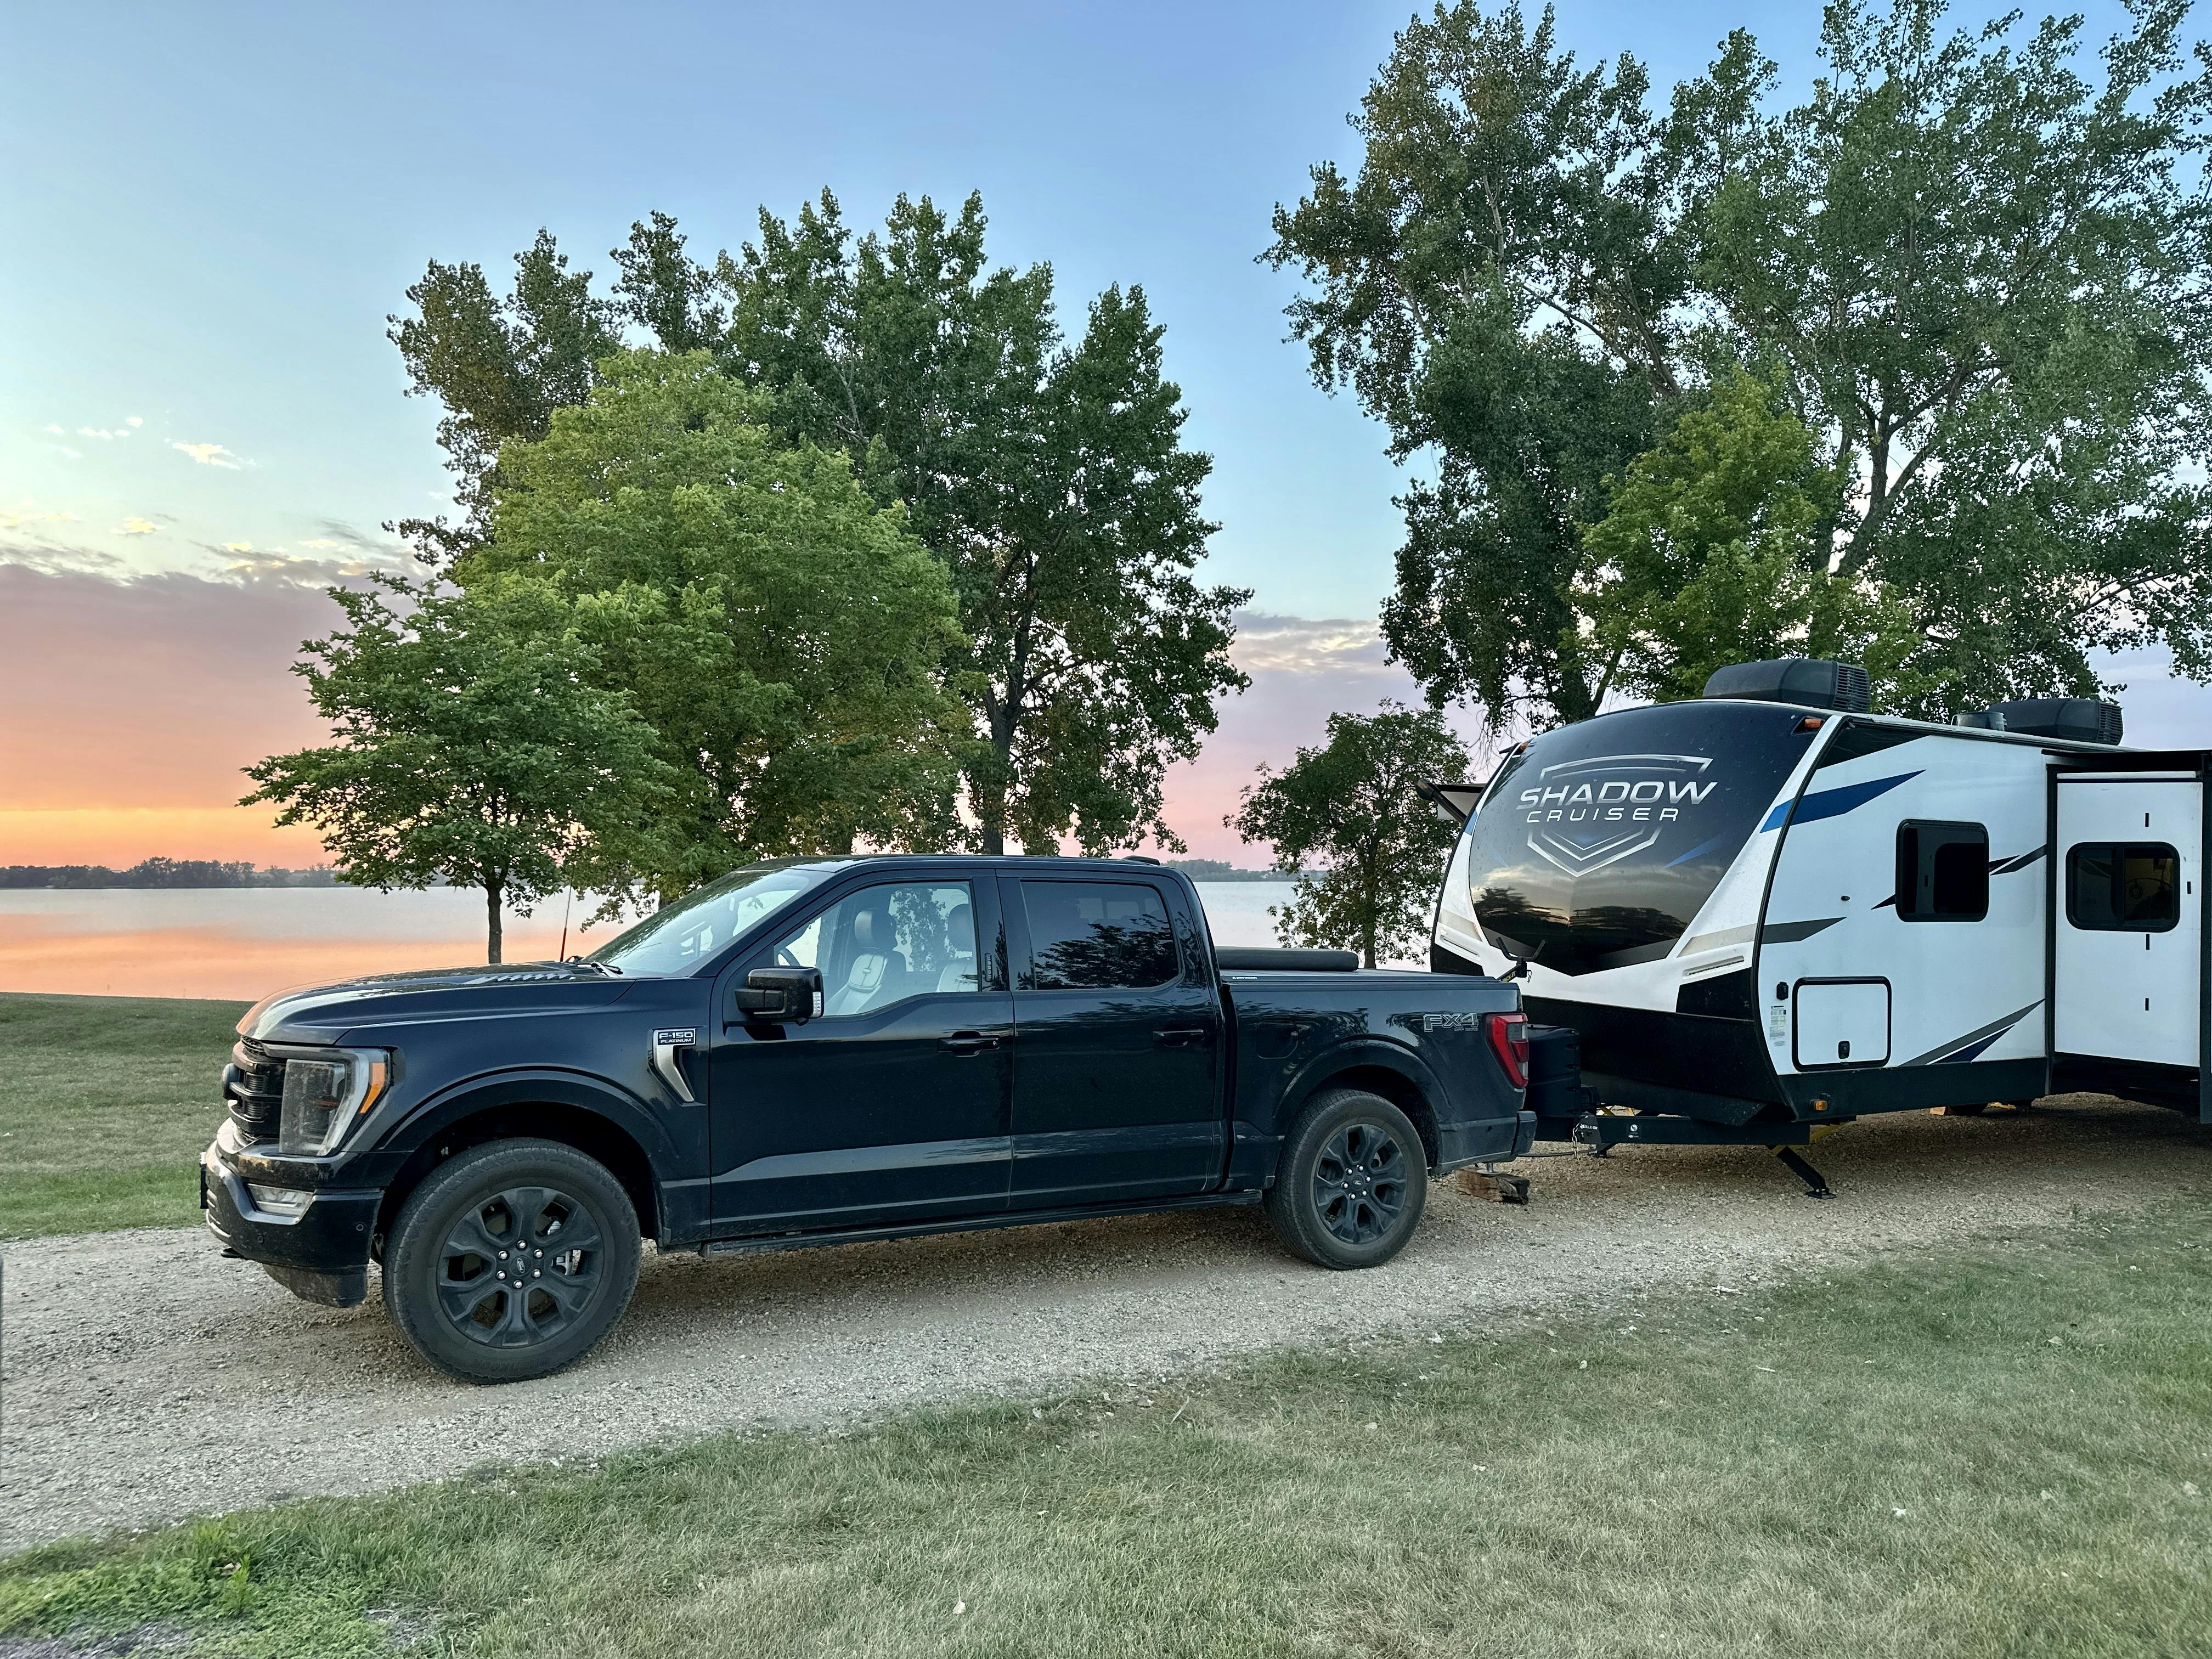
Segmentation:
<svg viewBox="0 0 2212 1659">
<path fill-rule="evenodd" d="M 1356 179 L 1314 168 L 1267 257 L 1314 283 L 1290 314 L 1316 380 L 1438 458 L 1383 615 L 1433 701 L 1582 719 L 1730 635 L 1823 628 L 1891 657 L 1909 637 L 1869 668 L 1922 714 L 2093 690 L 2093 648 L 2212 675 L 2212 88 L 2183 77 L 2185 4 L 2146 0 L 2101 77 L 2079 18 L 1942 15 L 1832 4 L 1832 73 L 1796 108 L 1743 31 L 1663 111 L 1635 60 L 1579 69 L 1548 11 L 1400 33 Z M 1712 434 L 1668 434 L 1743 365 L 1809 436 L 1807 467 L 1767 469 L 1790 500 L 1739 502 L 1765 531 L 1741 549 L 1630 573 L 1661 476 L 1703 489 L 1679 469 Z M 1617 489 L 1639 500 L 1593 546 Z M 1794 526 L 1801 495 L 1823 511 L 1785 560 L 1765 520 Z M 1827 573 L 1865 615 L 1820 622 L 1801 588 Z"/>
</svg>

